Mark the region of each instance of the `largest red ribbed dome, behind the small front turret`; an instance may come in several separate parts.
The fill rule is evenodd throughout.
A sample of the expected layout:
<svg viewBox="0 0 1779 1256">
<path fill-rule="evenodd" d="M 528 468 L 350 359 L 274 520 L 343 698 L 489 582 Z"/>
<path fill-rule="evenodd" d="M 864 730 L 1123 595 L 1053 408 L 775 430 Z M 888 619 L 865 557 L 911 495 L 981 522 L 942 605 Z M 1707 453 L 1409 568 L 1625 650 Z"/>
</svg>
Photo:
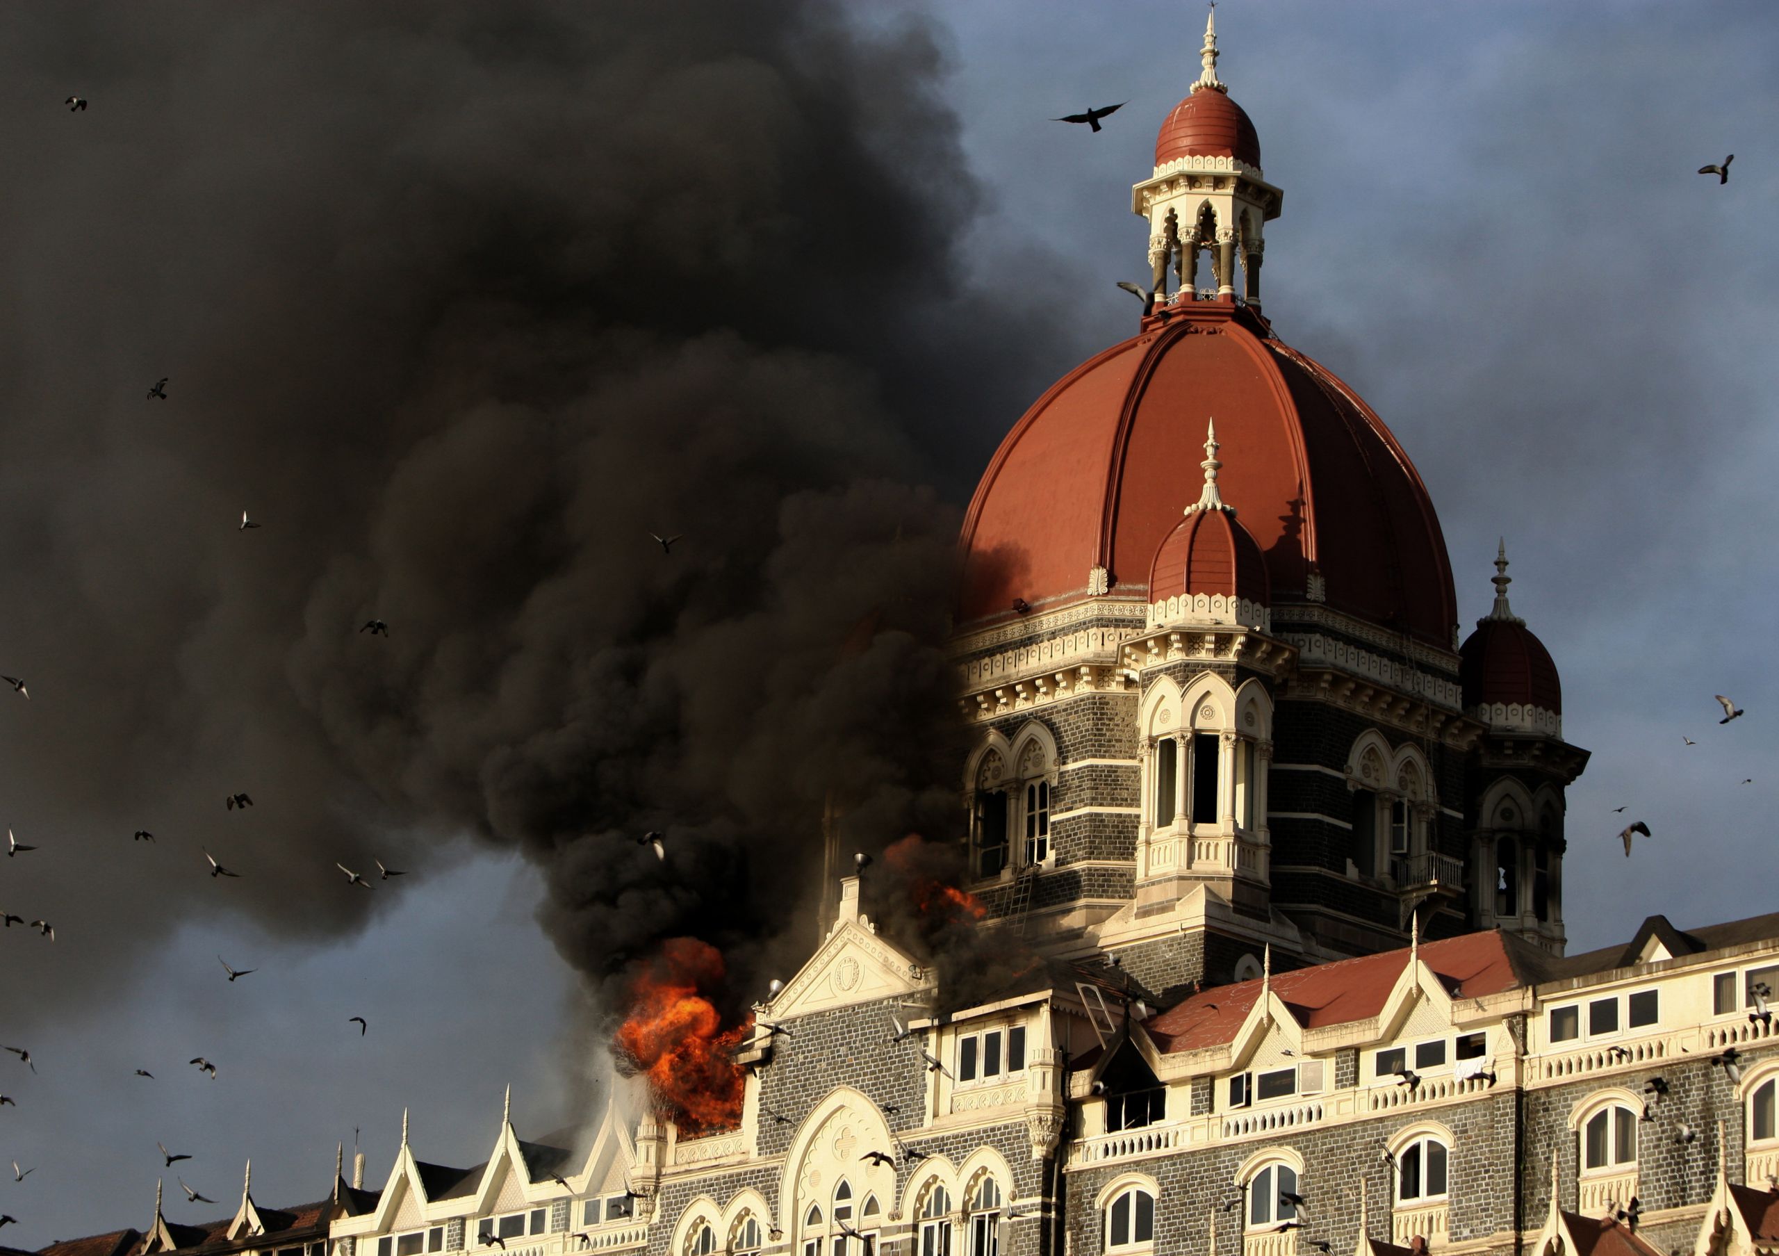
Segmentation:
<svg viewBox="0 0 1779 1256">
<path fill-rule="evenodd" d="M 1450 649 L 1457 598 L 1439 518 L 1409 455 L 1340 379 L 1249 310 L 1176 306 L 1053 384 L 1007 434 L 961 537 L 959 624 L 1014 598 L 1048 610 L 1149 598 L 1155 553 L 1197 498 L 1204 420 L 1222 498 L 1265 553 L 1272 607 L 1327 605 Z"/>
</svg>

